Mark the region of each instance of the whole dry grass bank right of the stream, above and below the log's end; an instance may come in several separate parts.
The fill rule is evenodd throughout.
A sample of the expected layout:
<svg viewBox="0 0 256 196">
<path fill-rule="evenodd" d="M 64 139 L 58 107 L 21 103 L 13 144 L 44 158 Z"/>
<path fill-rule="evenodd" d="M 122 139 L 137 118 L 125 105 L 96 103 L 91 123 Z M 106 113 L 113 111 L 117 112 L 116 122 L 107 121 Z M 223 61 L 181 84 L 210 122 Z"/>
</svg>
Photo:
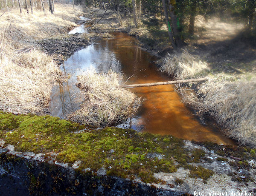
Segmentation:
<svg viewBox="0 0 256 196">
<path fill-rule="evenodd" d="M 212 116 L 227 136 L 241 144 L 255 146 L 255 71 L 246 71 L 240 64 L 239 68 L 244 71 L 239 69 L 241 72 L 238 74 L 236 68 L 233 71 L 216 69 L 214 64 L 201 59 L 182 51 L 167 56 L 160 70 L 177 79 L 208 77 L 207 82 L 192 87 L 195 92 L 180 88 L 183 101 L 201 116 Z M 249 67 L 253 66 L 252 62 Z"/>
</svg>

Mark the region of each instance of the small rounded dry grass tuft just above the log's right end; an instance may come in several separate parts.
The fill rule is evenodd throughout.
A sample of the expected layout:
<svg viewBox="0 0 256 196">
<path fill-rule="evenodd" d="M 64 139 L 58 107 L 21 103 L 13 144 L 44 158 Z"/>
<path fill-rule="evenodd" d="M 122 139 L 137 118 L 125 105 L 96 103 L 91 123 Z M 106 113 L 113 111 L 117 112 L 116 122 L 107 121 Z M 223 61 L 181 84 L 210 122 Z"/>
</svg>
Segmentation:
<svg viewBox="0 0 256 196">
<path fill-rule="evenodd" d="M 186 49 L 167 54 L 160 71 L 167 72 L 171 77 L 183 80 L 200 77 L 208 69 L 207 63 L 190 54 Z"/>
</svg>

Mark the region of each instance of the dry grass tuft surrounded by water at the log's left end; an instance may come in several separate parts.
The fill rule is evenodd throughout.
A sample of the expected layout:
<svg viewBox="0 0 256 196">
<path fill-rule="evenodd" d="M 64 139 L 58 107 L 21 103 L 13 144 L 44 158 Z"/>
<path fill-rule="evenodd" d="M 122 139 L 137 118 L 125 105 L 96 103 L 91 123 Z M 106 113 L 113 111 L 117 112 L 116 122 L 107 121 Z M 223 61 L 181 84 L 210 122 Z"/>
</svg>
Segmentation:
<svg viewBox="0 0 256 196">
<path fill-rule="evenodd" d="M 110 71 L 108 74 L 96 74 L 90 69 L 78 76 L 85 102 L 81 109 L 70 115 L 70 119 L 85 125 L 116 125 L 133 115 L 140 98 L 123 88 L 119 88 L 119 75 Z"/>
</svg>

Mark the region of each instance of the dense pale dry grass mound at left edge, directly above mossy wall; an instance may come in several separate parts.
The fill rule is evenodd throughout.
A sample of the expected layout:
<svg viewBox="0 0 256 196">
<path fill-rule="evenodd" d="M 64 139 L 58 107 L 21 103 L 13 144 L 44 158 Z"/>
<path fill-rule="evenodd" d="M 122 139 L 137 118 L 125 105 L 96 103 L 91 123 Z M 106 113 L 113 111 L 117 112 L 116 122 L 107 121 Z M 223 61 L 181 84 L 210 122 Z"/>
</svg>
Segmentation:
<svg viewBox="0 0 256 196">
<path fill-rule="evenodd" d="M 19 54 L 13 61 L 5 58 L 0 65 L 0 110 L 15 114 L 44 113 L 58 66 L 35 49 Z"/>
</svg>

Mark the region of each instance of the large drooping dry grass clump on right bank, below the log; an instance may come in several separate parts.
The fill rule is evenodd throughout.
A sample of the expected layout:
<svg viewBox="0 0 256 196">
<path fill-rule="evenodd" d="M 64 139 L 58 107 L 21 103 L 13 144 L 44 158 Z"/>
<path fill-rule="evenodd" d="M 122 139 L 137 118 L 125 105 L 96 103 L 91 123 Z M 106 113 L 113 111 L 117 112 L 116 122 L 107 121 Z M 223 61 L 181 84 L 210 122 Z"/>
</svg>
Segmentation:
<svg viewBox="0 0 256 196">
<path fill-rule="evenodd" d="M 194 94 L 184 94 L 184 102 L 201 114 L 210 114 L 228 136 L 241 144 L 256 146 L 256 78 L 235 82 L 211 77 Z"/>
</svg>

